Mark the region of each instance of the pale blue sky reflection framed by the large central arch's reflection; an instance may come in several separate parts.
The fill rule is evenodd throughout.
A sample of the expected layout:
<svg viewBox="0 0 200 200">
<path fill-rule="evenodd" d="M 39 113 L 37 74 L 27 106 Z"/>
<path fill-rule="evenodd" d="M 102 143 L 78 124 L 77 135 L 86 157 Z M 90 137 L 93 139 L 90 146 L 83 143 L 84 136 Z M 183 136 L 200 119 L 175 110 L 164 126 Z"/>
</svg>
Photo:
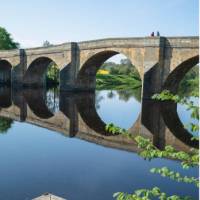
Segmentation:
<svg viewBox="0 0 200 200">
<path fill-rule="evenodd" d="M 105 123 L 114 123 L 122 128 L 132 127 L 141 111 L 141 103 L 134 90 L 103 90 L 96 92 L 96 109 Z M 126 116 L 126 117 L 125 117 Z"/>
</svg>

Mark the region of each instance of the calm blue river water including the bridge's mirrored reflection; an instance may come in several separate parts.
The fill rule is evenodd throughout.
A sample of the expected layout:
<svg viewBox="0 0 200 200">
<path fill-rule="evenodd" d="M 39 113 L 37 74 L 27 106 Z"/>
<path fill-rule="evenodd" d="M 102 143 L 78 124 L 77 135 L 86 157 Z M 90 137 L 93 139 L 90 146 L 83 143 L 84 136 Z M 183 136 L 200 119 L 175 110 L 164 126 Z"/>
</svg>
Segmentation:
<svg viewBox="0 0 200 200">
<path fill-rule="evenodd" d="M 183 175 L 179 161 L 146 161 L 136 145 L 122 136 L 110 136 L 105 123 L 150 138 L 158 148 L 172 145 L 189 151 L 197 147 L 183 127 L 190 113 L 180 105 L 139 100 L 138 91 L 61 93 L 51 90 L 0 89 L 1 122 L 0 199 L 32 199 L 45 192 L 68 200 L 107 200 L 114 192 L 133 192 L 158 186 L 169 195 L 190 195 L 198 189 L 151 174 L 168 166 Z M 6 125 L 5 125 L 6 124 Z M 9 128 L 9 125 L 11 126 Z M 6 131 L 7 130 L 7 131 Z"/>
</svg>

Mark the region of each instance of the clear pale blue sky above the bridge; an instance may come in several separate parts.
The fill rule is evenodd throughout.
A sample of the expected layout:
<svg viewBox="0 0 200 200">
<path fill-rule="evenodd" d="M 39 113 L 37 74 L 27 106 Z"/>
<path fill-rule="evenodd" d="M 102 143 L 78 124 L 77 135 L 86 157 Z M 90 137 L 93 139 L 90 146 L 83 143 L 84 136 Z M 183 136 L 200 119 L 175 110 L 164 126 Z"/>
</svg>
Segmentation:
<svg viewBox="0 0 200 200">
<path fill-rule="evenodd" d="M 198 35 L 198 0 L 0 0 L 0 26 L 22 47 L 107 37 Z"/>
</svg>

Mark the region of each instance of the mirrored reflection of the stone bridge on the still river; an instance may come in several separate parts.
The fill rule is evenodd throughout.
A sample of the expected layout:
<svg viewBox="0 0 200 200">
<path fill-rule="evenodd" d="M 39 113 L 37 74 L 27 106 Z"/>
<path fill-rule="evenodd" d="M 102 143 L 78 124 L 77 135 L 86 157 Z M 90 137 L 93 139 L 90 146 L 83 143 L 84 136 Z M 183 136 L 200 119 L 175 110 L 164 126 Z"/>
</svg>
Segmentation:
<svg viewBox="0 0 200 200">
<path fill-rule="evenodd" d="M 60 94 L 60 109 L 53 114 L 45 104 L 44 90 L 26 89 L 22 92 L 9 89 L 0 90 L 0 116 L 41 126 L 70 137 L 78 137 L 100 145 L 138 151 L 133 141 L 121 135 L 111 135 L 105 131 L 105 123 L 95 109 L 95 95 Z M 168 109 L 168 112 L 166 112 Z M 162 113 L 162 111 L 164 111 Z M 171 113 L 169 114 L 165 113 Z M 167 126 L 165 125 L 167 124 Z M 129 131 L 153 140 L 163 148 L 173 145 L 179 150 L 197 147 L 191 135 L 184 129 L 176 113 L 175 104 L 162 104 L 143 101 L 140 116 Z M 178 134 L 177 134 L 178 133 Z"/>
</svg>

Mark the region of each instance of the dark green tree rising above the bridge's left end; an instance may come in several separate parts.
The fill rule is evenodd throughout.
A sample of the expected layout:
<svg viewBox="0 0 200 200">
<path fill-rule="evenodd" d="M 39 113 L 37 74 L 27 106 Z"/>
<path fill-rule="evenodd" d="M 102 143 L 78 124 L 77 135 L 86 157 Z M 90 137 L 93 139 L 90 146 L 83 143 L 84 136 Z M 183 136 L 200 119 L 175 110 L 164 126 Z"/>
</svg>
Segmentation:
<svg viewBox="0 0 200 200">
<path fill-rule="evenodd" d="M 14 42 L 10 33 L 3 27 L 0 27 L 0 49 L 9 50 L 19 48 L 19 43 Z"/>
</svg>

